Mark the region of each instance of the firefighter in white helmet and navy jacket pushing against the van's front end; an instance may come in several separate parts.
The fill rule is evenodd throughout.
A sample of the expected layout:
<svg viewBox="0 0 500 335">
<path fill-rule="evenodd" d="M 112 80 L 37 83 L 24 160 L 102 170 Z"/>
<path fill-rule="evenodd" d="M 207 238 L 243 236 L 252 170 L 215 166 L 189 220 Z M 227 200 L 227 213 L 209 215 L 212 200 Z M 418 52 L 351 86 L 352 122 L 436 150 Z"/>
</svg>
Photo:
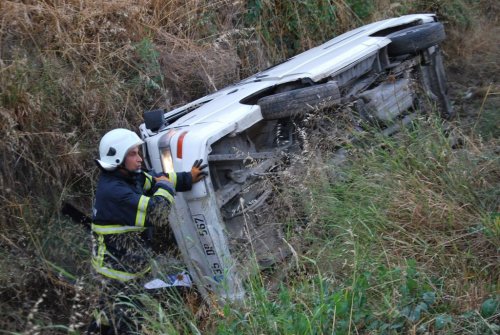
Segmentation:
<svg viewBox="0 0 500 335">
<path fill-rule="evenodd" d="M 139 151 L 143 143 L 134 132 L 119 128 L 106 133 L 99 144 L 91 262 L 108 295 L 140 286 L 151 270 L 153 226 L 167 223 L 176 191 L 190 190 L 207 175 L 201 159 L 188 172 L 145 172 Z M 96 326 L 99 321 L 93 331 Z"/>
</svg>

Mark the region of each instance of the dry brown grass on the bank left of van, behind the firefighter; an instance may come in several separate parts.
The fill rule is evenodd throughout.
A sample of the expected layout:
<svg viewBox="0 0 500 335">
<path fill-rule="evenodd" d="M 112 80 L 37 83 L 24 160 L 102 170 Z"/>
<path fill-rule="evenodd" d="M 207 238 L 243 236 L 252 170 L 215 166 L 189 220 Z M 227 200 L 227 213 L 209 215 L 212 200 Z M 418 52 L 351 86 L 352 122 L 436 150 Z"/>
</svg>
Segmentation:
<svg viewBox="0 0 500 335">
<path fill-rule="evenodd" d="M 239 79 L 232 38 L 216 40 L 234 30 L 238 8 L 229 1 L 0 2 L 0 244 L 6 260 L 0 328 L 28 331 L 36 322 L 65 324 L 71 317 L 64 311 L 71 310 L 67 298 L 74 292 L 46 261 L 86 275 L 88 263 L 79 262 L 89 241 L 60 217 L 61 201 L 90 212 L 93 158 L 105 131 L 135 129 L 144 109 L 170 108 Z M 43 313 L 28 318 L 44 288 L 50 299 L 40 302 Z M 54 299 L 61 310 L 47 305 Z M 82 315 L 71 322 L 87 322 Z"/>
</svg>

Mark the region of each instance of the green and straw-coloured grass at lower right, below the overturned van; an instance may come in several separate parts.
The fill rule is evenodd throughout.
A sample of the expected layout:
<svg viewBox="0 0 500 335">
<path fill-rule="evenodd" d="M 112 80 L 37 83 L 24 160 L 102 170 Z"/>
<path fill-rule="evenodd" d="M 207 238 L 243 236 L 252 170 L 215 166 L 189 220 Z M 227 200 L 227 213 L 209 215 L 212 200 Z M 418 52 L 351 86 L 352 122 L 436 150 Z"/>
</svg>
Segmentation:
<svg viewBox="0 0 500 335">
<path fill-rule="evenodd" d="M 473 146 L 454 150 L 438 120 L 421 121 L 354 148 L 342 180 L 305 181 L 317 219 L 298 268 L 276 292 L 250 279 L 248 299 L 226 305 L 214 332 L 494 334 L 500 310 L 482 318 L 472 295 L 499 298 L 498 222 L 485 221 L 498 181 L 477 180 L 498 162 Z M 460 286 L 464 271 L 475 282 Z"/>
</svg>

